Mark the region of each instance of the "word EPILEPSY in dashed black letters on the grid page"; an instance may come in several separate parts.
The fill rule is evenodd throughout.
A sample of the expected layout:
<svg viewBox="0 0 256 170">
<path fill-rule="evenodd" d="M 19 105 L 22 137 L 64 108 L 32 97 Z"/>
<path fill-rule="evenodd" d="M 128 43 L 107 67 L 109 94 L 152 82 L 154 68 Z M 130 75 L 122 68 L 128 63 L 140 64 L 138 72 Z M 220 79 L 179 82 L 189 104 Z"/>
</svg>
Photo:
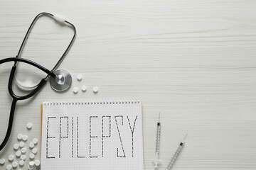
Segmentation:
<svg viewBox="0 0 256 170">
<path fill-rule="evenodd" d="M 81 121 L 80 117 L 69 117 L 69 116 L 61 116 L 59 118 L 49 116 L 47 118 L 47 135 L 46 135 L 46 158 L 47 159 L 57 159 L 61 158 L 62 156 L 62 149 L 67 149 L 67 145 L 62 145 L 63 140 L 65 141 L 66 139 L 70 139 L 70 147 L 71 147 L 71 157 L 77 157 L 77 158 L 99 158 L 99 157 L 105 157 L 105 140 L 107 138 L 111 139 L 113 136 L 113 133 L 118 133 L 118 142 L 119 142 L 119 147 L 116 147 L 117 151 L 117 157 L 127 157 L 126 153 L 127 150 L 124 149 L 123 145 L 123 139 L 122 139 L 122 128 L 124 126 L 124 121 L 127 121 L 127 126 L 125 128 L 129 128 L 130 132 L 130 142 L 131 142 L 131 150 L 132 150 L 132 157 L 134 157 L 134 130 L 136 129 L 136 122 L 137 122 L 138 115 L 132 119 L 129 118 L 129 116 L 124 116 L 124 115 L 115 115 L 115 116 L 110 116 L 110 115 L 104 115 L 104 116 L 90 116 L 89 117 L 89 133 L 87 135 L 87 139 L 89 140 L 89 143 L 87 144 L 89 146 L 89 153 L 88 155 L 81 155 L 80 154 L 80 147 L 83 147 L 85 143 L 82 143 L 79 141 L 80 137 L 86 137 L 85 133 L 80 132 L 80 125 L 81 123 L 84 123 Z M 114 119 L 114 120 L 112 120 Z M 92 125 L 93 121 L 97 120 L 100 123 L 100 128 L 101 128 L 101 133 L 100 134 L 92 134 L 93 128 L 99 128 L 99 126 L 94 127 Z M 75 126 L 76 123 L 76 126 Z M 107 125 L 106 125 L 107 124 Z M 50 127 L 50 125 L 54 125 L 54 127 Z M 50 135 L 53 130 L 53 128 L 56 128 L 58 126 L 58 135 Z M 112 126 L 116 128 L 115 130 L 112 130 Z M 66 128 L 63 128 L 66 127 Z M 71 129 L 70 129 L 71 128 Z M 75 132 L 76 131 L 76 132 Z M 82 136 L 84 135 L 84 136 Z M 125 134 L 127 135 L 127 134 Z M 75 140 L 76 137 L 76 140 Z M 97 146 L 101 148 L 101 154 L 100 155 L 94 155 L 93 150 L 97 149 L 95 147 L 92 147 L 93 141 L 101 140 L 101 146 Z M 54 140 L 54 141 L 53 141 Z M 126 139 L 127 140 L 127 139 Z M 49 148 L 53 148 L 50 145 L 53 142 L 58 142 L 58 154 L 54 154 L 50 152 Z M 76 146 L 75 146 L 76 145 Z M 56 145 L 54 145 L 56 146 Z M 76 149 L 75 149 L 76 147 Z M 55 148 L 57 149 L 57 148 Z"/>
</svg>

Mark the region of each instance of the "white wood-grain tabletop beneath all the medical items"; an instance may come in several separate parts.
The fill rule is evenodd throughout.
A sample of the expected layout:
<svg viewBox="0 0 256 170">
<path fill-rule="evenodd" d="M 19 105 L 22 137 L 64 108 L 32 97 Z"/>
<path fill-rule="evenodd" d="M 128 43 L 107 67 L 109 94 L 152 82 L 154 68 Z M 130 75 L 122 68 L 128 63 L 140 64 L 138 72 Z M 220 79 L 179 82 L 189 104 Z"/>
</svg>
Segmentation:
<svg viewBox="0 0 256 170">
<path fill-rule="evenodd" d="M 255 8 L 254 0 L 1 0 L 0 59 L 16 56 L 36 14 L 58 13 L 78 30 L 59 68 L 73 75 L 72 88 L 85 84 L 88 89 L 58 94 L 47 84 L 33 100 L 18 103 L 11 140 L 0 158 L 14 154 L 20 132 L 29 140 L 40 138 L 44 100 L 137 97 L 143 105 L 144 169 L 154 169 L 159 112 L 161 169 L 186 133 L 173 169 L 256 169 Z M 22 57 L 50 69 L 72 34 L 70 28 L 41 18 Z M 0 67 L 0 139 L 11 106 L 11 65 Z M 19 67 L 20 79 L 24 74 L 34 81 L 42 76 L 25 64 Z M 76 81 L 77 74 L 83 75 L 82 81 Z M 99 87 L 98 94 L 92 86 Z M 33 123 L 31 131 L 26 130 L 28 122 Z"/>
</svg>

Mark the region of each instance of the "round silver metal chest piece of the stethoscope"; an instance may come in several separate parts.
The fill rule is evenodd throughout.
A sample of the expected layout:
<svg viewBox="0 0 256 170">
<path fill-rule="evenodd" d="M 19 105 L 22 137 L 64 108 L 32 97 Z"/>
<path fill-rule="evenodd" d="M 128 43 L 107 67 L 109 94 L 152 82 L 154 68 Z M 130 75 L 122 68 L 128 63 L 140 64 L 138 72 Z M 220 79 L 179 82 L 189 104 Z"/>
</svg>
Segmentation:
<svg viewBox="0 0 256 170">
<path fill-rule="evenodd" d="M 50 77 L 50 86 L 53 90 L 59 92 L 68 90 L 72 84 L 71 75 L 63 69 L 55 71 L 54 74 L 56 75 L 55 78 Z"/>
</svg>

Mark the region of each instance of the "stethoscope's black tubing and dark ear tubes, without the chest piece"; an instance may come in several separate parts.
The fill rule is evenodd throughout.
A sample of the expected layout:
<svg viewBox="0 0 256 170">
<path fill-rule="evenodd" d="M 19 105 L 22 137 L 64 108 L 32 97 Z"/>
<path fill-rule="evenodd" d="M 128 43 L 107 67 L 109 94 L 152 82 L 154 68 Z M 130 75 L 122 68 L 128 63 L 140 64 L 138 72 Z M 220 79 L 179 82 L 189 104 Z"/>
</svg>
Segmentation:
<svg viewBox="0 0 256 170">
<path fill-rule="evenodd" d="M 66 48 L 65 52 L 63 53 L 63 55 L 60 57 L 60 59 L 58 60 L 58 62 L 55 64 L 55 66 L 53 67 L 53 69 L 50 71 L 48 69 L 46 69 L 45 67 L 41 66 L 40 64 L 37 64 L 36 62 L 33 62 L 31 60 L 26 60 L 23 58 L 20 58 L 21 52 L 23 50 L 23 47 L 26 43 L 26 40 L 28 39 L 28 35 L 31 32 L 34 24 L 36 23 L 36 21 L 38 20 L 38 18 L 40 16 L 50 16 L 53 17 L 53 14 L 51 13 L 47 13 L 47 12 L 43 12 L 43 13 L 39 13 L 32 21 L 31 25 L 29 26 L 25 37 L 23 38 L 23 41 L 21 43 L 21 47 L 18 50 L 18 55 L 16 55 L 16 57 L 10 57 L 10 58 L 6 58 L 4 60 L 0 60 L 0 64 L 3 64 L 5 62 L 14 62 L 14 66 L 11 69 L 11 73 L 10 73 L 10 77 L 9 77 L 9 83 L 8 83 L 8 90 L 9 90 L 9 94 L 11 95 L 11 97 L 13 98 L 13 101 L 11 103 L 11 111 L 10 111 L 10 117 L 9 117 L 9 124 L 8 124 L 8 128 L 6 131 L 6 136 L 4 137 L 3 142 L 0 145 L 0 151 L 5 147 L 6 143 L 9 140 L 9 137 L 11 135 L 11 128 L 14 122 L 14 112 L 15 112 L 15 108 L 16 108 L 16 103 L 19 100 L 25 100 L 28 98 L 31 98 L 32 96 L 34 96 L 35 94 L 38 93 L 38 91 L 40 91 L 42 89 L 42 87 L 46 84 L 48 78 L 53 77 L 55 78 L 56 75 L 54 74 L 55 69 L 57 69 L 57 67 L 60 65 L 60 63 L 63 61 L 65 55 L 67 55 L 68 51 L 70 50 L 71 45 L 73 44 L 73 42 L 75 41 L 75 36 L 76 36 L 76 29 L 75 26 L 68 22 L 68 21 L 64 21 L 65 23 L 68 23 L 74 30 L 74 35 L 72 40 L 70 41 L 68 47 Z M 25 96 L 17 96 L 16 94 L 14 94 L 14 91 L 12 89 L 12 84 L 14 81 L 14 76 L 15 76 L 15 72 L 16 72 L 16 65 L 18 62 L 24 62 L 26 64 L 31 64 L 34 67 L 37 67 L 38 69 L 41 69 L 43 72 L 46 72 L 47 76 L 43 79 L 41 79 L 41 81 L 39 82 L 39 84 L 36 86 L 36 89 L 33 89 L 33 91 L 31 91 L 31 93 L 25 95 Z"/>
</svg>

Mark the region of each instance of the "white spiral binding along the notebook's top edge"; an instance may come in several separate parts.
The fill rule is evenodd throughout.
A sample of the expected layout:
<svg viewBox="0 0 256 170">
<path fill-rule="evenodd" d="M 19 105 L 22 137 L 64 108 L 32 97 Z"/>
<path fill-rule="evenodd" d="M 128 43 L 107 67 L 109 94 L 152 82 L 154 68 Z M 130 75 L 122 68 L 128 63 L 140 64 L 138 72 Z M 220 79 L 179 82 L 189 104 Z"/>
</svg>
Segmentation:
<svg viewBox="0 0 256 170">
<path fill-rule="evenodd" d="M 43 101 L 43 106 L 75 106 L 75 105 L 114 105 L 114 104 L 137 104 L 141 103 L 139 99 L 122 98 L 122 99 L 91 99 L 91 100 L 74 100 L 74 101 Z"/>
</svg>

